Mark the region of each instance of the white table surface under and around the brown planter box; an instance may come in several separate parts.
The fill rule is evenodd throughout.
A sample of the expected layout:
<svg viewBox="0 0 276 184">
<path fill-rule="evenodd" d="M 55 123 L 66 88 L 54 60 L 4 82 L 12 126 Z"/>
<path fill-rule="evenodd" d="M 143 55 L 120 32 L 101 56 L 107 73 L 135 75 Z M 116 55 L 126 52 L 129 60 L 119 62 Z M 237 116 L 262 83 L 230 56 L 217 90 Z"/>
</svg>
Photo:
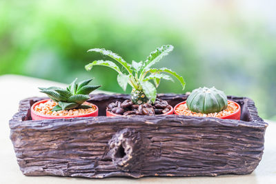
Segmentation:
<svg viewBox="0 0 276 184">
<path fill-rule="evenodd" d="M 61 176 L 24 176 L 19 170 L 10 141 L 8 121 L 17 112 L 21 99 L 43 96 L 37 87 L 65 86 L 61 83 L 34 79 L 26 76 L 0 76 L 0 184 L 2 183 L 276 183 L 276 122 L 269 123 L 265 135 L 262 161 L 252 174 L 244 176 L 224 175 L 216 177 L 146 177 L 146 178 L 71 178 Z M 96 92 L 99 92 L 96 91 Z"/>
</svg>

